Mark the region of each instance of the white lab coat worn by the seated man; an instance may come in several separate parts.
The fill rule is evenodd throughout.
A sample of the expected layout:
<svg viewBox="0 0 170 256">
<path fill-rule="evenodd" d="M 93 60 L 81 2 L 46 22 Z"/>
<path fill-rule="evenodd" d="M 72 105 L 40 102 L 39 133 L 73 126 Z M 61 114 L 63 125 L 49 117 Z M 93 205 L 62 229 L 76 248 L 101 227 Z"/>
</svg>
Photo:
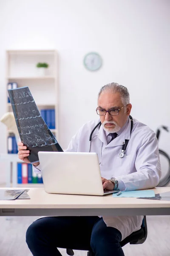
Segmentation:
<svg viewBox="0 0 170 256">
<path fill-rule="evenodd" d="M 109 179 L 116 177 L 119 189 L 136 190 L 149 189 L 157 186 L 161 177 L 158 141 L 156 134 L 141 122 L 133 119 L 133 130 L 130 134 L 130 119 L 125 129 L 108 144 L 106 133 L 102 128 L 91 131 L 99 122 L 85 123 L 71 139 L 67 151 L 96 152 L 99 157 L 101 176 Z M 126 156 L 118 156 L 125 140 L 129 140 Z M 37 166 L 40 169 L 40 166 Z M 37 168 L 35 169 L 37 171 Z M 103 216 L 109 227 L 115 227 L 122 233 L 122 240 L 134 231 L 140 229 L 143 216 Z"/>
</svg>

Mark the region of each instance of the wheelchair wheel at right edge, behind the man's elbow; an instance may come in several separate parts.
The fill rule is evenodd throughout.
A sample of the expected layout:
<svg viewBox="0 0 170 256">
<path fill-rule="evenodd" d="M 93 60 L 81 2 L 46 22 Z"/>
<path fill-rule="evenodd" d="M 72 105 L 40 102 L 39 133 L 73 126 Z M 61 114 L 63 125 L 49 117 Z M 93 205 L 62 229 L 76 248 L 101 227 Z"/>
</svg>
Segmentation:
<svg viewBox="0 0 170 256">
<path fill-rule="evenodd" d="M 163 177 L 161 177 L 161 180 L 158 184 L 158 186 L 160 187 L 160 186 L 166 186 L 170 182 L 170 157 L 168 156 L 167 153 L 165 153 L 161 149 L 159 149 L 159 155 L 160 155 L 160 160 L 163 159 L 167 163 L 166 172 L 163 175 Z M 161 166 L 161 168 L 163 169 L 163 166 Z"/>
</svg>

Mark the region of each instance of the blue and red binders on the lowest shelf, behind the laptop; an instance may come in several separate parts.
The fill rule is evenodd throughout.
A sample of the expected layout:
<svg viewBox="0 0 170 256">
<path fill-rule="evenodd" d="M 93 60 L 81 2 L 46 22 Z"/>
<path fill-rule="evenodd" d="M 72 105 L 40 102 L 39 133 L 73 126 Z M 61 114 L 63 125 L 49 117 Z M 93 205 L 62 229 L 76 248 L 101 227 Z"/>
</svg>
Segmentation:
<svg viewBox="0 0 170 256">
<path fill-rule="evenodd" d="M 33 172 L 31 163 L 17 163 L 17 177 L 19 184 L 43 183 L 42 175 Z"/>
</svg>

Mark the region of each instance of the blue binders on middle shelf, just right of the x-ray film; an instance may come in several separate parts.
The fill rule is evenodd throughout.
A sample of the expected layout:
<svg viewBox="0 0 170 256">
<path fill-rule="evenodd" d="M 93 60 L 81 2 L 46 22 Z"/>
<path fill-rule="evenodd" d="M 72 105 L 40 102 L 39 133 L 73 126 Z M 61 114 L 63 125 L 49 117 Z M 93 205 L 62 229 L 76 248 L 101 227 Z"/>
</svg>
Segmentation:
<svg viewBox="0 0 170 256">
<path fill-rule="evenodd" d="M 55 129 L 55 109 L 42 109 L 41 116 L 49 129 Z"/>
</svg>

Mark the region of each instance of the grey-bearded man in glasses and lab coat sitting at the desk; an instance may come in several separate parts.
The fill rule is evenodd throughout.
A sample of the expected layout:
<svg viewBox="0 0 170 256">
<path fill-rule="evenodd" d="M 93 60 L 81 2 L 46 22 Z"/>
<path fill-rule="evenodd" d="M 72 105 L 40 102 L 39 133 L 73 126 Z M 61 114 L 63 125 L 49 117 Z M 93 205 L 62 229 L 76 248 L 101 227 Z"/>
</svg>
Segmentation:
<svg viewBox="0 0 170 256">
<path fill-rule="evenodd" d="M 98 154 L 103 189 L 149 189 L 159 183 L 156 135 L 147 125 L 129 117 L 131 108 L 126 87 L 105 85 L 99 92 L 96 109 L 101 125 L 97 126 L 99 120 L 86 123 L 68 146 L 67 151 Z M 23 143 L 18 145 L 19 158 L 28 163 L 29 151 Z M 121 151 L 122 146 L 127 146 L 125 152 Z M 36 165 L 34 170 L 40 173 L 41 166 Z M 34 256 L 59 256 L 57 247 L 78 250 L 90 245 L 96 256 L 123 256 L 119 242 L 139 230 L 142 219 L 143 216 L 46 217 L 28 227 L 26 242 Z"/>
</svg>

